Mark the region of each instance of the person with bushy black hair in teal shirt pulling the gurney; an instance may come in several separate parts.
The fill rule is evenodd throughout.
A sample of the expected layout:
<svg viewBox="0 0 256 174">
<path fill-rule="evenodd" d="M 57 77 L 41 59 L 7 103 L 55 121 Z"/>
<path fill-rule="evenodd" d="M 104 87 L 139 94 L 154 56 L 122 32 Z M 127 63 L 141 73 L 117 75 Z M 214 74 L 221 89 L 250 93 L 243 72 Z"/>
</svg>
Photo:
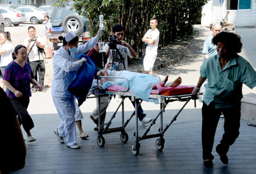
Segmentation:
<svg viewBox="0 0 256 174">
<path fill-rule="evenodd" d="M 239 135 L 242 84 L 253 89 L 256 86 L 256 72 L 250 63 L 237 55 L 241 52 L 240 36 L 231 32 L 220 32 L 212 39 L 217 45 L 218 55 L 210 57 L 200 68 L 200 78 L 193 94 L 199 91 L 208 79 L 202 108 L 202 146 L 204 164 L 213 165 L 212 148 L 218 120 L 223 113 L 224 134 L 216 152 L 222 163 L 228 164 L 226 155 Z"/>
</svg>

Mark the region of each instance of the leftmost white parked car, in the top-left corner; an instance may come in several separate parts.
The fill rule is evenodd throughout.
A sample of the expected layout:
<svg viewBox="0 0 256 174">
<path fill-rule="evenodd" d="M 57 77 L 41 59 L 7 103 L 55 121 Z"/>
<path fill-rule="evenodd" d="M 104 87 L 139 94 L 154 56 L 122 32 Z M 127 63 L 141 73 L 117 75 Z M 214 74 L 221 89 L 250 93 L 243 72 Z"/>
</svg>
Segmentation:
<svg viewBox="0 0 256 174">
<path fill-rule="evenodd" d="M 3 19 L 5 20 L 6 27 L 10 27 L 11 24 L 14 24 L 14 26 L 18 26 L 20 23 L 24 23 L 27 21 L 26 14 L 21 13 L 16 9 L 0 8 L 0 11 L 3 15 Z"/>
</svg>

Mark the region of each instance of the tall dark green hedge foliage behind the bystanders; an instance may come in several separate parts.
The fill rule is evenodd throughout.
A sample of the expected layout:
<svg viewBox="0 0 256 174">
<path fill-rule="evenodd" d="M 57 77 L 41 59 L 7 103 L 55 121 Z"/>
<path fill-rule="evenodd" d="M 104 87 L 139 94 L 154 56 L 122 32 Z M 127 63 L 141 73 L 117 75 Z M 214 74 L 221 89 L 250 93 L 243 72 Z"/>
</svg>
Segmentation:
<svg viewBox="0 0 256 174">
<path fill-rule="evenodd" d="M 57 5 L 65 6 L 67 2 L 59 1 Z M 207 0 L 77 0 L 73 8 L 90 20 L 91 35 L 98 31 L 100 14 L 104 15 L 105 38 L 112 34 L 115 24 L 121 24 L 126 28 L 126 42 L 141 57 L 142 38 L 150 28 L 152 16 L 158 18 L 159 47 L 164 47 L 178 37 L 192 34 L 205 3 Z"/>
</svg>

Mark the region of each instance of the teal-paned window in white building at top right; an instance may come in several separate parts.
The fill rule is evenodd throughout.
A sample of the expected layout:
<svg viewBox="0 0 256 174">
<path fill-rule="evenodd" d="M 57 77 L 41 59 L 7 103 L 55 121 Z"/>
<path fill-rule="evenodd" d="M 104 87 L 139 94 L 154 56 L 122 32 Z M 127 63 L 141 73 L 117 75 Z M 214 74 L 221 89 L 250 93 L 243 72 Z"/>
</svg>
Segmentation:
<svg viewBox="0 0 256 174">
<path fill-rule="evenodd" d="M 227 0 L 226 10 L 250 10 L 251 0 Z"/>
</svg>

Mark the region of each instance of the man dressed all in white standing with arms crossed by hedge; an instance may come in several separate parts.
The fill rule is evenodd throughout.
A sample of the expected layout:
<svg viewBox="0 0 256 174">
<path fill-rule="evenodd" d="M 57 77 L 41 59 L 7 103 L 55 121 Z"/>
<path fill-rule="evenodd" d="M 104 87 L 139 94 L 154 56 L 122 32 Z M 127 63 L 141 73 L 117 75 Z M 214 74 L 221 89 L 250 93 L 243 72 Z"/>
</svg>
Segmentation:
<svg viewBox="0 0 256 174">
<path fill-rule="evenodd" d="M 146 34 L 143 36 L 142 41 L 147 43 L 146 54 L 143 60 L 144 71 L 149 74 L 156 74 L 153 71 L 156 56 L 158 55 L 158 42 L 159 42 L 159 30 L 156 28 L 158 25 L 158 19 L 155 17 L 150 19 L 150 27 Z"/>
</svg>

